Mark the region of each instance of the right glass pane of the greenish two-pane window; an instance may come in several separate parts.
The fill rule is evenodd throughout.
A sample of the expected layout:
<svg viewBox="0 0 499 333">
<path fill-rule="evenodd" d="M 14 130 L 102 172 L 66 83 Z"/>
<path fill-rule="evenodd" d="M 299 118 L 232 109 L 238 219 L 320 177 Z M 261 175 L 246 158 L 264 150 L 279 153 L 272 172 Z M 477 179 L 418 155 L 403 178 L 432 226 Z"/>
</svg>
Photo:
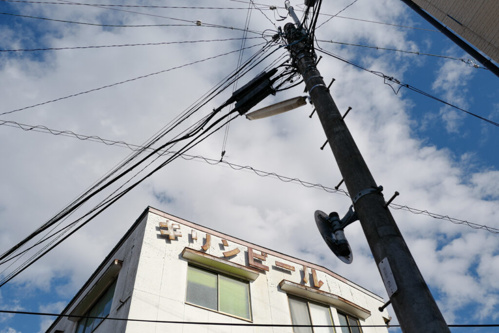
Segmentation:
<svg viewBox="0 0 499 333">
<path fill-rule="evenodd" d="M 250 319 L 248 284 L 223 275 L 219 276 L 219 284 L 219 311 Z"/>
</svg>

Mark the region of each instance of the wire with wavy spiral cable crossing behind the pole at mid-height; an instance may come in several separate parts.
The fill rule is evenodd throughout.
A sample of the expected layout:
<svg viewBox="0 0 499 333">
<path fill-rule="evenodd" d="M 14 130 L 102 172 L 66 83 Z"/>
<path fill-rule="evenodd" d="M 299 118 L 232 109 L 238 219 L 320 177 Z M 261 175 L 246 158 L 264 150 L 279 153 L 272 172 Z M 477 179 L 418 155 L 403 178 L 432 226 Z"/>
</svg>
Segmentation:
<svg viewBox="0 0 499 333">
<path fill-rule="evenodd" d="M 77 139 L 82 140 L 82 141 L 89 140 L 89 141 L 104 143 L 104 144 L 109 145 L 109 146 L 116 145 L 119 147 L 128 148 L 128 149 L 133 150 L 133 151 L 138 151 L 138 150 L 142 150 L 142 149 L 148 150 L 148 151 L 153 150 L 153 148 L 147 148 L 147 147 L 143 147 L 143 146 L 139 146 L 139 145 L 134 145 L 134 144 L 126 143 L 124 141 L 113 141 L 113 140 L 103 139 L 103 138 L 96 136 L 96 135 L 88 136 L 88 135 L 76 134 L 72 131 L 67 131 L 67 130 L 66 131 L 54 130 L 54 129 L 49 129 L 49 128 L 42 126 L 42 125 L 33 126 L 33 125 L 20 124 L 20 123 L 17 123 L 15 121 L 7 121 L 7 120 L 0 120 L 0 125 L 10 126 L 10 127 L 14 127 L 14 128 L 20 128 L 24 131 L 35 131 L 35 132 L 41 132 L 41 133 L 48 133 L 48 134 L 52 134 L 52 135 L 63 135 L 63 136 L 68 136 L 68 137 L 74 137 L 74 138 L 77 138 Z M 159 150 L 157 153 L 160 155 L 164 155 L 164 154 L 171 155 L 171 154 L 175 154 L 176 152 L 168 151 L 168 150 Z M 350 197 L 350 194 L 348 192 L 344 191 L 343 189 L 334 189 L 331 187 L 324 186 L 320 183 L 314 184 L 314 183 L 300 180 L 299 178 L 291 178 L 291 177 L 279 175 L 275 172 L 267 172 L 267 171 L 258 170 L 258 169 L 251 167 L 251 166 L 248 166 L 248 165 L 243 166 L 243 165 L 238 165 L 235 163 L 230 163 L 227 161 L 219 161 L 219 160 L 215 160 L 215 159 L 206 158 L 206 157 L 203 157 L 201 155 L 180 154 L 180 157 L 183 158 L 184 160 L 195 160 L 195 159 L 201 160 L 201 161 L 204 161 L 210 165 L 219 165 L 219 164 L 221 166 L 225 165 L 225 166 L 228 166 L 234 170 L 247 170 L 247 171 L 253 172 L 254 174 L 256 174 L 257 176 L 260 176 L 260 177 L 270 176 L 272 178 L 278 179 L 278 180 L 285 182 L 285 183 L 299 184 L 299 185 L 302 185 L 304 187 L 317 188 L 317 189 L 326 191 L 328 193 L 336 193 L 336 194 L 341 194 L 341 195 Z M 483 229 L 483 230 L 486 230 L 486 231 L 493 233 L 493 234 L 499 234 L 499 229 L 488 227 L 485 225 L 479 225 L 476 223 L 468 222 L 466 220 L 452 218 L 452 217 L 449 217 L 448 215 L 440 215 L 440 214 L 428 212 L 427 210 L 420 210 L 417 208 L 412 208 L 412 207 L 403 206 L 403 205 L 397 205 L 394 203 L 391 203 L 390 207 L 393 209 L 396 209 L 396 210 L 404 210 L 404 211 L 407 211 L 407 212 L 410 212 L 410 213 L 413 213 L 416 215 L 422 214 L 422 215 L 432 217 L 434 219 L 447 220 L 447 221 L 450 221 L 454 224 L 463 224 L 463 225 L 467 225 L 473 229 Z"/>
</svg>

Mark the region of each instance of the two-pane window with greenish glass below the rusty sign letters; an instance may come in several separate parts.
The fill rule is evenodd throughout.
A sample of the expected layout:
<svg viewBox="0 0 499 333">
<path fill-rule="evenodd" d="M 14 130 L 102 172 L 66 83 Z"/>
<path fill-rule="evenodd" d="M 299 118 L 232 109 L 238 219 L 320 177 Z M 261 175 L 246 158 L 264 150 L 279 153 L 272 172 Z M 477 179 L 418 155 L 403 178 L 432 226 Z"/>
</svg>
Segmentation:
<svg viewBox="0 0 499 333">
<path fill-rule="evenodd" d="M 186 303 L 251 320 L 248 282 L 193 266 L 187 273 Z"/>
</svg>

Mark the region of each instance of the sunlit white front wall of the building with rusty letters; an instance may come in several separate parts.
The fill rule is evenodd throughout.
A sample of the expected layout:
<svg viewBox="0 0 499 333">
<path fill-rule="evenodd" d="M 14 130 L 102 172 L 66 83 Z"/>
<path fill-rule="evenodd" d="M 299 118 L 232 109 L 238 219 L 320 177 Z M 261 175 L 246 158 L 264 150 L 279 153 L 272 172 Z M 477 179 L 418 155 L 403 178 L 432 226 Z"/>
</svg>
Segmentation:
<svg viewBox="0 0 499 333">
<path fill-rule="evenodd" d="M 162 215 L 162 216 L 160 216 Z M 188 261 L 182 258 L 182 251 L 185 247 L 194 250 L 201 250 L 206 239 L 208 229 L 188 223 L 187 221 L 169 216 L 167 214 L 149 213 L 147 217 L 144 241 L 141 247 L 140 258 L 137 268 L 137 276 L 130 303 L 129 318 L 164 320 L 164 321 L 186 321 L 186 322 L 220 322 L 220 323 L 248 323 L 244 320 L 220 314 L 214 311 L 201 309 L 189 304 L 185 304 L 186 280 Z M 182 237 L 170 241 L 168 237 L 160 235 L 160 222 L 167 222 L 168 219 L 179 223 Z M 198 228 L 193 228 L 197 226 Z M 198 240 L 192 240 L 191 231 L 196 230 Z M 248 264 L 248 243 L 236 242 L 234 238 L 224 237 L 220 233 L 211 231 L 211 247 L 206 253 L 224 258 L 222 252 L 239 248 L 240 253 L 229 258 L 233 263 L 244 266 Z M 217 236 L 218 235 L 218 236 Z M 229 246 L 224 247 L 222 237 L 229 240 Z M 256 247 L 256 246 L 255 246 Z M 256 247 L 258 249 L 258 247 Z M 201 250 L 202 251 L 202 250 Z M 302 283 L 303 262 L 299 260 L 289 260 L 289 257 L 279 256 L 275 252 L 268 253 L 267 260 L 263 262 L 270 270 L 261 271 L 255 281 L 250 282 L 250 298 L 252 319 L 255 324 L 291 324 L 287 295 L 279 289 L 279 282 L 283 279 Z M 256 253 L 259 253 L 257 251 Z M 292 265 L 295 272 L 281 269 L 275 266 L 275 261 Z M 317 266 L 310 266 L 317 269 Z M 319 267 L 320 268 L 320 267 Z M 338 295 L 349 302 L 352 302 L 371 312 L 371 316 L 361 325 L 385 325 L 384 313 L 378 311 L 378 307 L 383 305 L 381 298 L 365 291 L 355 284 L 338 279 L 325 269 L 317 270 L 317 277 L 324 282 L 321 291 Z M 310 269 L 308 269 L 310 274 Z M 310 280 L 311 280 L 310 275 Z M 343 280 L 343 281 L 342 281 Z M 309 282 L 307 286 L 310 286 Z M 339 323 L 337 313 L 331 307 L 331 313 L 335 323 Z M 109 331 L 111 332 L 111 331 Z M 129 322 L 126 332 L 182 332 L 182 333 L 209 333 L 209 332 L 292 332 L 291 328 L 252 328 L 252 327 L 230 327 L 230 326 L 209 326 L 209 325 L 182 325 L 182 324 L 161 324 L 161 323 L 139 323 Z M 385 328 L 364 328 L 364 333 L 388 332 Z"/>
</svg>

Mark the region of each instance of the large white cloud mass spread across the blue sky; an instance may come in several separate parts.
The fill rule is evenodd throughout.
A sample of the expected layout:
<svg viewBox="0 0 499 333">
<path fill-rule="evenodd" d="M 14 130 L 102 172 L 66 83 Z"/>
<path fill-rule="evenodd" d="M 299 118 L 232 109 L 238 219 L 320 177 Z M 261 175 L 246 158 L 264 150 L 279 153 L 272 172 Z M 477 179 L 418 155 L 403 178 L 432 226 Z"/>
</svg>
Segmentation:
<svg viewBox="0 0 499 333">
<path fill-rule="evenodd" d="M 324 3 L 323 10 L 336 12 L 347 2 Z M 406 9 L 400 1 L 378 2 L 364 1 L 362 5 L 352 6 L 345 16 L 350 15 L 351 10 L 352 16 L 380 21 L 396 21 L 404 17 Z M 79 7 L 40 4 L 24 10 L 39 16 L 89 22 L 97 19 L 110 21 L 122 15 L 112 10 L 103 12 L 99 8 Z M 168 14 L 155 13 L 229 26 L 244 23 L 240 20 L 241 13 L 228 15 L 180 9 Z M 144 15 L 126 17 L 123 20 L 126 24 L 150 24 L 152 19 Z M 154 19 L 158 23 L 170 22 Z M 348 22 L 346 19 L 332 19 L 317 30 L 317 37 L 342 36 L 349 42 L 362 40 L 401 49 L 416 47 L 402 29 Z M 50 23 L 50 28 L 58 34 L 45 36 L 43 41 L 47 45 L 64 47 L 241 36 L 241 31 L 203 26 L 101 29 L 64 25 L 66 28 L 62 30 L 58 24 Z M 262 30 L 261 27 L 271 28 L 265 17 L 254 12 L 250 28 Z M 33 40 L 10 36 L 16 34 L 10 31 L 3 37 L 8 39 L 10 47 L 34 45 Z M 322 47 L 328 50 L 360 58 L 373 70 L 401 80 L 408 70 L 406 60 L 409 58 L 405 55 L 391 57 L 388 52 L 366 55 L 358 49 L 324 44 Z M 234 41 L 61 50 L 45 53 L 43 61 L 33 57 L 3 56 L 0 84 L 8 89 L 0 91 L 0 111 L 153 73 L 235 50 L 239 46 L 240 41 Z M 251 52 L 246 51 L 245 57 Z M 237 58 L 237 53 L 230 54 L 2 117 L 140 144 L 233 70 Z M 499 228 L 496 213 L 499 180 L 494 167 L 469 175 L 468 167 L 473 161 L 463 159 L 458 163 L 449 148 L 440 149 L 415 137 L 415 119 L 411 112 L 418 102 L 409 100 L 404 90 L 394 95 L 383 85 L 381 78 L 329 57 L 321 60 L 319 68 L 325 81 L 336 78 L 331 92 L 339 109 L 353 107 L 345 121 L 372 174 L 378 184 L 384 186 L 385 197 L 397 190 L 401 195 L 396 203 Z M 446 99 L 467 107 L 472 101 L 467 99 L 471 93 L 467 91 L 466 83 L 475 75 L 474 70 L 459 61 L 444 61 L 433 88 Z M 242 78 L 239 86 L 255 74 Z M 301 94 L 302 89 L 298 87 L 279 93 L 262 104 Z M 207 114 L 229 95 L 230 92 L 218 96 L 200 113 Z M 302 107 L 254 122 L 243 118 L 234 121 L 229 131 L 225 160 L 334 187 L 341 175 L 329 148 L 319 149 L 325 136 L 316 116 L 311 120 L 308 118 L 311 109 L 311 106 Z M 443 108 L 439 116 L 448 131 L 460 131 L 464 121 L 460 113 L 453 115 Z M 432 121 L 433 118 L 429 119 Z M 0 214 L 1 221 L 4 221 L 0 225 L 2 252 L 50 218 L 129 153 L 125 148 L 5 126 L 0 128 L 0 140 L 1 154 L 5 157 L 0 168 L 3 175 L 8 175 L 0 185 Z M 223 133 L 218 133 L 192 153 L 217 159 L 222 142 Z M 158 201 L 158 194 L 172 200 Z M 92 201 L 92 204 L 96 202 Z M 313 212 L 316 209 L 344 214 L 350 205 L 348 198 L 283 183 L 271 177 L 258 177 L 251 172 L 184 160 L 175 161 L 146 180 L 70 240 L 21 273 L 10 285 L 30 293 L 57 291 L 61 299 L 70 298 L 147 205 L 324 265 L 386 297 L 358 224 L 346 230 L 354 251 L 354 262 L 349 266 L 333 258 L 315 230 Z M 90 207 L 90 204 L 85 206 L 82 212 Z M 499 291 L 494 277 L 499 272 L 498 265 L 492 264 L 498 260 L 497 235 L 404 211 L 394 211 L 393 214 L 423 276 L 442 295 L 438 302 L 448 321 L 454 322 L 455 314 L 470 304 L 479 304 L 484 309 L 470 317 L 495 318 Z M 60 282 L 58 278 L 61 277 L 67 281 Z M 463 285 L 467 286 L 466 291 L 463 291 Z M 56 302 L 40 309 L 59 311 L 61 307 L 62 303 Z M 391 314 L 394 316 L 393 312 Z M 40 328 L 48 323 L 49 320 L 43 320 Z"/>
</svg>

